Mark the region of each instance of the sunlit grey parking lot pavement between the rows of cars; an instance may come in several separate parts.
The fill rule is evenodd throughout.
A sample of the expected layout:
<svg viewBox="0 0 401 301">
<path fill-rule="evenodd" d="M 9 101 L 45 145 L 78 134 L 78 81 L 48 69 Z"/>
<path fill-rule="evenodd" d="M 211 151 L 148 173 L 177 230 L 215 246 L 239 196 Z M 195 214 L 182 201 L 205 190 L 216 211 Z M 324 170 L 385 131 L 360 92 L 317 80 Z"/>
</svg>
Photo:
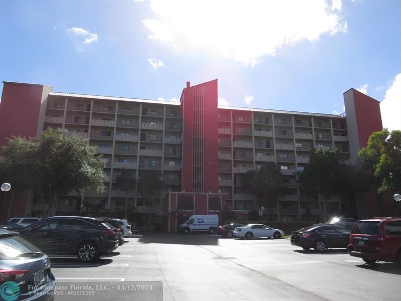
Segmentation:
<svg viewBox="0 0 401 301">
<path fill-rule="evenodd" d="M 288 239 L 145 233 L 127 238 L 115 252 L 91 264 L 52 258 L 52 271 L 58 282 L 162 281 L 163 300 L 176 301 L 399 300 L 401 296 L 401 270 L 395 264 L 369 266 L 345 249 L 305 252 Z"/>
</svg>

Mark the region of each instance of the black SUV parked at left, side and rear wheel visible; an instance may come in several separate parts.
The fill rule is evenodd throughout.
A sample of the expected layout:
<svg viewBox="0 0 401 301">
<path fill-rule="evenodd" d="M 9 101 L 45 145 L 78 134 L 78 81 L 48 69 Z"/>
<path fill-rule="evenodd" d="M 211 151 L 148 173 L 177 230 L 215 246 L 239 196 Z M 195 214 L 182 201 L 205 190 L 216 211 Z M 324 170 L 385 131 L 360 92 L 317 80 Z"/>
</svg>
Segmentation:
<svg viewBox="0 0 401 301">
<path fill-rule="evenodd" d="M 118 247 L 116 229 L 93 217 L 54 216 L 15 231 L 46 254 L 75 254 L 84 262 Z"/>
</svg>

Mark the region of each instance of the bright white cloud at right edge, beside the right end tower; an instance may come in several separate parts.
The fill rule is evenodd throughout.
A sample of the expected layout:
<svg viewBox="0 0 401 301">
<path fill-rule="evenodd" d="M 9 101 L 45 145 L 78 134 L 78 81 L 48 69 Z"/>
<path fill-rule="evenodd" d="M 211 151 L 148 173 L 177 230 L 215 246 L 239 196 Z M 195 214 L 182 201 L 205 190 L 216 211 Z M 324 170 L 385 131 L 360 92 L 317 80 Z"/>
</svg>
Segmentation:
<svg viewBox="0 0 401 301">
<path fill-rule="evenodd" d="M 401 73 L 397 74 L 380 103 L 383 127 L 401 129 Z"/>
</svg>

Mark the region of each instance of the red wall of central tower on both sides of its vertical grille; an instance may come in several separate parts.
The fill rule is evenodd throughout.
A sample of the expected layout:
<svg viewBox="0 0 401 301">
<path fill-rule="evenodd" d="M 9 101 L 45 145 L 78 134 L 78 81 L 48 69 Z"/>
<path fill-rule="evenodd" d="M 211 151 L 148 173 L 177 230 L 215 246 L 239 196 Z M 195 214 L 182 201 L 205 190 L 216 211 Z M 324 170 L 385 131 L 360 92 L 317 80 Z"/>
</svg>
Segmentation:
<svg viewBox="0 0 401 301">
<path fill-rule="evenodd" d="M 192 192 L 192 131 L 193 91 L 204 88 L 204 191 L 218 192 L 218 144 L 217 144 L 217 79 L 188 87 L 182 91 L 182 189 Z"/>
</svg>

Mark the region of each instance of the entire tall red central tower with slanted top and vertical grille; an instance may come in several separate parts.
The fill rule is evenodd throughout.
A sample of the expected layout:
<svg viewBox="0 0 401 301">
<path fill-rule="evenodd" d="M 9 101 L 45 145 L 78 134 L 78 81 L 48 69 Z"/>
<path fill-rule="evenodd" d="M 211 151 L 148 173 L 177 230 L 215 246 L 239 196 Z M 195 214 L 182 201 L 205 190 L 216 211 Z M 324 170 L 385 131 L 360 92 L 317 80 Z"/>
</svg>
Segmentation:
<svg viewBox="0 0 401 301">
<path fill-rule="evenodd" d="M 217 79 L 190 86 L 182 105 L 182 189 L 218 192 Z"/>
</svg>

